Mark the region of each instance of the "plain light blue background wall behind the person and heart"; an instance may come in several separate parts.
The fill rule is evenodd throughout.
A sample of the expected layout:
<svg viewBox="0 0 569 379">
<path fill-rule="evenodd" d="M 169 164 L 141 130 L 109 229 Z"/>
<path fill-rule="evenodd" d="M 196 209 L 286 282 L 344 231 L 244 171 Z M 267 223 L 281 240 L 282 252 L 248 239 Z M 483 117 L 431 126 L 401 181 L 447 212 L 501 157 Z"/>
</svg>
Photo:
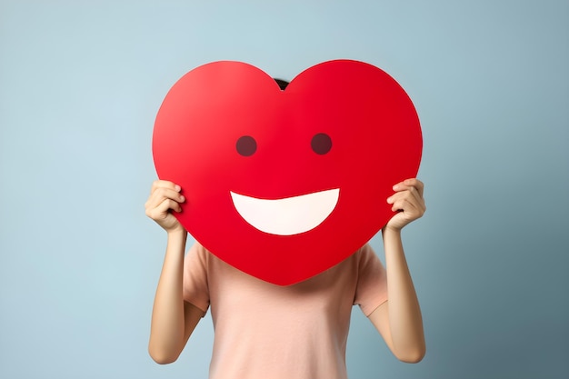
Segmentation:
<svg viewBox="0 0 569 379">
<path fill-rule="evenodd" d="M 204 378 L 209 316 L 175 364 L 146 353 L 156 111 L 196 65 L 290 79 L 334 58 L 413 98 L 428 204 L 404 231 L 427 355 L 397 362 L 355 308 L 351 377 L 569 377 L 569 2 L 552 0 L 0 1 L 0 377 Z"/>
</svg>

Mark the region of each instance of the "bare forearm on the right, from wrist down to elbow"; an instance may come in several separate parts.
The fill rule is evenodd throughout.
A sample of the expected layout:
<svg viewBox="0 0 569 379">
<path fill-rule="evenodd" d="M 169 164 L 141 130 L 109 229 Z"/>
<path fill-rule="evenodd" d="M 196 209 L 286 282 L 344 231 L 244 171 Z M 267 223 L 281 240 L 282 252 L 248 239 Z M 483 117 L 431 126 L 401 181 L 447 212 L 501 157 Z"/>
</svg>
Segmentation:
<svg viewBox="0 0 569 379">
<path fill-rule="evenodd" d="M 389 329 L 394 351 L 403 360 L 417 362 L 425 351 L 423 319 L 404 255 L 401 230 L 384 229 Z"/>
</svg>

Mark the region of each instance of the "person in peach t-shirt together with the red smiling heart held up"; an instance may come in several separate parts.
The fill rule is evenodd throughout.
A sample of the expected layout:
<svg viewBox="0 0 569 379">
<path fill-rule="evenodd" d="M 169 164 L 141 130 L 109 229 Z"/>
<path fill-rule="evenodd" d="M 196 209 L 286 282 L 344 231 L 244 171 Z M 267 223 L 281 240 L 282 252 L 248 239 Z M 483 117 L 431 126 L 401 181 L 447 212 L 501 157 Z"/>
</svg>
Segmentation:
<svg viewBox="0 0 569 379">
<path fill-rule="evenodd" d="M 346 75 L 339 75 L 342 70 Z M 231 75 L 219 79 L 227 73 Z M 313 105 L 311 91 L 321 87 L 331 73 L 347 79 L 326 87 L 319 96 L 330 96 L 328 102 L 343 102 L 346 93 L 365 91 L 376 82 L 376 87 L 388 92 L 380 102 L 387 104 L 385 111 L 378 112 L 377 105 L 365 109 L 356 104 L 361 120 L 391 117 L 390 124 L 397 126 L 394 133 L 402 135 L 372 130 L 384 144 L 377 149 L 370 143 L 374 139 L 370 130 L 354 134 L 357 127 L 346 128 L 344 122 L 334 121 L 345 117 L 334 114 L 341 103 L 331 110 L 326 106 L 325 114 L 304 106 Z M 234 89 L 235 77 L 239 83 Z M 199 113 L 224 91 L 234 97 L 200 120 L 201 124 L 221 117 L 205 128 L 209 135 L 181 136 L 168 130 L 155 149 L 155 161 L 174 152 L 172 158 L 164 159 L 164 165 L 156 163 L 161 179 L 152 185 L 145 203 L 146 215 L 167 234 L 148 344 L 155 362 L 174 362 L 196 324 L 210 311 L 215 327 L 211 379 L 344 379 L 354 304 L 398 359 L 421 361 L 425 354 L 423 321 L 401 233 L 405 225 L 424 214 L 424 185 L 415 178 L 385 182 L 402 173 L 416 174 L 420 159 L 418 121 L 402 89 L 376 67 L 352 61 L 314 66 L 294 78 L 289 87 L 279 83 L 282 91 L 275 90 L 275 81 L 258 69 L 230 62 L 205 65 L 180 83 L 166 96 L 156 125 L 179 122 L 190 114 L 187 109 Z M 243 94 L 244 83 L 253 88 L 248 94 Z M 341 94 L 334 95 L 338 88 Z M 199 96 L 188 100 L 187 94 L 195 93 Z M 172 105 L 172 98 L 184 102 Z M 400 104 L 394 106 L 397 99 Z M 194 101 L 202 103 L 192 105 Z M 243 108 L 265 101 L 265 108 L 280 117 L 270 123 L 275 126 L 273 132 L 281 133 L 279 138 L 265 135 L 265 129 L 256 133 L 226 130 L 235 121 L 223 118 L 228 113 L 226 105 L 240 101 L 239 107 L 232 108 L 239 109 L 239 115 L 245 114 Z M 285 115 L 284 108 L 279 108 L 282 104 L 286 109 L 300 107 L 303 120 L 310 120 L 313 112 L 324 123 L 316 125 L 312 120 L 296 133 L 294 116 Z M 390 115 L 401 109 L 404 115 Z M 168 118 L 165 113 L 174 116 Z M 332 118 L 326 120 L 328 115 Z M 268 118 L 257 118 L 265 127 Z M 251 129 L 257 118 L 246 118 L 245 126 L 232 128 Z M 282 129 L 278 128 L 280 119 L 286 121 Z M 397 125 L 399 120 L 404 123 Z M 386 124 L 381 119 L 374 123 Z M 215 132 L 218 127 L 224 129 Z M 403 146 L 384 142 L 400 136 L 407 142 Z M 411 150 L 405 151 L 408 146 Z M 287 158 L 281 160 L 284 155 Z M 196 171 L 197 165 L 186 169 L 186 165 L 215 162 L 220 157 L 223 160 L 213 165 L 211 178 L 211 167 L 210 172 Z M 185 165 L 184 175 L 176 176 L 176 170 L 168 170 L 179 162 Z M 339 166 L 345 162 L 347 167 Z M 381 168 L 386 162 L 391 170 Z M 366 182 L 362 180 L 368 177 L 364 169 L 372 164 L 378 165 L 381 179 Z M 317 169 L 291 183 L 290 177 L 302 176 L 300 166 Z M 189 177 L 201 180 L 202 185 L 188 182 Z M 212 185 L 204 186 L 204 181 Z M 386 268 L 366 243 L 378 230 L 383 235 Z M 188 232 L 196 242 L 185 254 Z"/>
</svg>

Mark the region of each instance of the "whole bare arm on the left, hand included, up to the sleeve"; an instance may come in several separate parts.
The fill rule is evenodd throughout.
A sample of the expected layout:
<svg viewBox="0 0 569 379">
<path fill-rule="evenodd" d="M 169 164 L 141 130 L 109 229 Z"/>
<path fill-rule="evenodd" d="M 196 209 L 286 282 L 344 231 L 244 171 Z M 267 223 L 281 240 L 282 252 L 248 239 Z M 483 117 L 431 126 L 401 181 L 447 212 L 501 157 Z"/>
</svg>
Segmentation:
<svg viewBox="0 0 569 379">
<path fill-rule="evenodd" d="M 187 233 L 171 211 L 179 212 L 185 201 L 180 188 L 156 181 L 145 204 L 146 215 L 167 232 L 165 260 L 156 288 L 148 352 L 159 364 L 174 362 L 204 313 L 184 301 L 182 281 Z"/>
</svg>

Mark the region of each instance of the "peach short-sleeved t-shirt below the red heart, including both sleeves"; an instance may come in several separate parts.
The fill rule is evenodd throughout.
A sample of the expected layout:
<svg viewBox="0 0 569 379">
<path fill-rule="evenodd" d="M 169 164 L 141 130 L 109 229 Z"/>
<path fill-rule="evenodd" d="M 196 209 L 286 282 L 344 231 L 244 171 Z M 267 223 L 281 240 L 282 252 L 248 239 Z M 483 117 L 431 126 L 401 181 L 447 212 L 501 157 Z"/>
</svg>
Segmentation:
<svg viewBox="0 0 569 379">
<path fill-rule="evenodd" d="M 369 244 L 304 282 L 279 286 L 196 243 L 185 255 L 184 299 L 211 308 L 211 379 L 340 379 L 352 306 L 371 314 L 387 300 L 387 283 Z"/>
</svg>

